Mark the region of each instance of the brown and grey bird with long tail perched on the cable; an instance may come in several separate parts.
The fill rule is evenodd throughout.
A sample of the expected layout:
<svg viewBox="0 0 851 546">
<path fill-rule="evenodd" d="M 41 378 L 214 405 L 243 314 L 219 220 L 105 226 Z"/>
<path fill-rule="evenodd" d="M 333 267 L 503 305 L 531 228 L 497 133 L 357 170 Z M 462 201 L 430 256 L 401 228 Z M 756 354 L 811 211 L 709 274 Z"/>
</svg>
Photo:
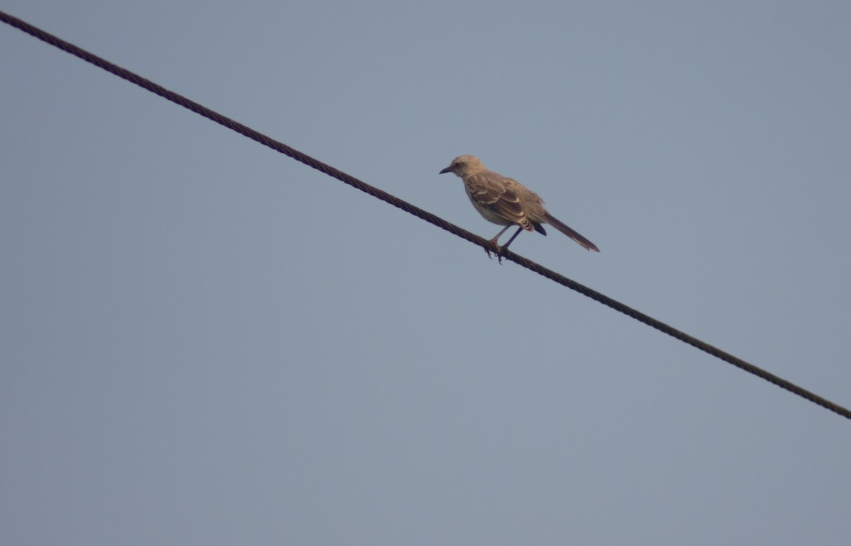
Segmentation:
<svg viewBox="0 0 851 546">
<path fill-rule="evenodd" d="M 505 227 L 490 240 L 500 249 L 497 256 L 501 260 L 501 252 L 508 248 L 515 237 L 523 230 L 538 231 L 546 235 L 543 224 L 549 224 L 564 235 L 578 242 L 582 247 L 594 252 L 600 252 L 593 242 L 588 241 L 576 231 L 569 228 L 561 220 L 555 218 L 544 208 L 544 200 L 534 191 L 500 173 L 488 171 L 476 156 L 458 156 L 444 168 L 443 173 L 455 173 L 464 181 L 464 189 L 473 207 L 484 219 Z M 497 240 L 512 225 L 517 225 L 517 231 L 502 247 Z M 490 256 L 490 251 L 485 250 Z"/>
</svg>

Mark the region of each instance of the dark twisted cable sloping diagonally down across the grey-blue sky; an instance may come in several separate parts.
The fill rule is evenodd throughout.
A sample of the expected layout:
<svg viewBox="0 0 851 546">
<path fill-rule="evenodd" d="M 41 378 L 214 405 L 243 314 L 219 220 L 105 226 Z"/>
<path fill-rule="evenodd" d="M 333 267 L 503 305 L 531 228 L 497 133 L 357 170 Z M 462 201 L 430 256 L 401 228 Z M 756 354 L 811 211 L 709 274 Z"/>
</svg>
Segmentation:
<svg viewBox="0 0 851 546">
<path fill-rule="evenodd" d="M 288 145 L 283 144 L 282 142 L 278 142 L 275 139 L 271 139 L 265 134 L 261 134 L 252 128 L 248 128 L 242 123 L 236 122 L 229 117 L 222 116 L 220 113 L 210 110 L 206 106 L 200 105 L 193 100 L 186 99 L 186 97 L 180 94 L 176 94 L 173 91 L 169 91 L 167 88 L 163 88 L 163 86 L 157 85 L 157 83 L 151 82 L 150 80 L 147 80 L 144 77 L 140 77 L 138 74 L 128 71 L 122 68 L 121 66 L 114 65 L 108 60 L 102 59 L 101 57 L 95 54 L 89 53 L 89 51 L 86 51 L 83 48 L 79 48 L 72 43 L 68 43 L 65 40 L 60 39 L 59 37 L 55 37 L 54 35 L 49 34 L 48 32 L 45 32 L 37 28 L 36 26 L 32 26 L 29 23 L 26 23 L 26 21 L 17 19 L 9 14 L 4 13 L 3 11 L 0 11 L 0 20 L 3 20 L 4 23 L 7 23 L 10 26 L 14 26 L 15 28 L 24 31 L 33 37 L 37 37 L 43 42 L 49 43 L 50 45 L 53 45 L 56 48 L 60 48 L 63 51 L 75 55 L 80 59 L 85 60 L 95 66 L 100 66 L 100 68 L 104 69 L 105 71 L 111 72 L 117 77 L 122 77 L 123 79 L 129 82 L 133 82 L 141 88 L 145 88 L 148 91 L 151 91 L 151 93 L 158 94 L 164 99 L 168 99 L 174 102 L 175 104 L 181 105 L 184 108 L 187 108 L 188 110 L 191 110 L 203 117 L 207 117 L 208 119 L 213 120 L 214 122 L 219 123 L 220 125 L 223 125 L 226 128 L 231 129 L 232 131 L 236 131 L 239 134 L 243 134 L 249 139 L 256 140 L 257 142 L 260 142 L 260 144 L 270 147 L 272 150 L 279 151 L 285 156 L 292 157 L 296 161 L 305 163 L 311 168 L 315 168 L 322 173 L 328 174 L 328 176 L 332 176 L 335 179 L 345 182 L 346 184 L 351 185 L 360 191 L 368 193 L 370 196 L 377 197 L 381 201 L 390 203 L 394 207 L 401 208 L 407 213 L 414 214 L 414 216 L 420 219 L 424 219 L 430 224 L 437 225 L 437 227 L 442 228 L 443 230 L 447 230 L 448 232 L 456 236 L 460 236 L 462 239 L 466 239 L 467 241 L 472 242 L 473 244 L 476 244 L 480 247 L 483 247 L 491 252 L 495 253 L 497 251 L 497 247 L 493 243 L 487 241 L 486 239 L 483 239 L 483 237 L 477 236 L 476 234 L 471 233 L 470 231 L 461 229 L 457 225 L 451 224 L 435 214 L 429 213 L 428 211 L 423 210 L 422 208 L 416 207 L 409 202 L 399 199 L 397 196 L 393 196 L 387 193 L 386 191 L 374 187 L 373 185 L 368 185 L 366 182 L 356 179 L 355 177 L 346 174 L 337 168 L 331 167 L 326 163 L 314 159 L 313 157 L 308 156 L 298 150 L 295 150 L 294 148 L 291 148 Z M 716 358 L 722 361 L 728 362 L 729 364 L 732 364 L 735 367 L 739 367 L 740 369 L 745 370 L 745 372 L 747 373 L 752 373 L 757 377 L 763 378 L 769 383 L 777 385 L 781 389 L 788 390 L 808 401 L 813 402 L 814 404 L 818 404 L 821 407 L 829 409 L 831 412 L 838 413 L 844 418 L 851 419 L 851 410 L 848 410 L 845 407 L 839 406 L 829 400 L 826 400 L 825 398 L 822 398 L 821 396 L 816 395 L 813 392 L 810 392 L 809 390 L 802 389 L 802 387 L 797 386 L 797 384 L 793 384 L 790 381 L 786 381 L 784 378 L 780 378 L 774 375 L 773 373 L 769 373 L 763 370 L 760 367 L 756 367 L 749 362 L 743 361 L 740 358 L 731 355 L 728 352 L 720 350 L 711 344 L 707 344 L 698 338 L 694 338 L 693 336 L 690 336 L 687 333 L 677 330 L 677 328 L 671 327 L 665 324 L 665 322 L 658 321 L 652 316 L 645 315 L 641 311 L 632 309 L 630 306 L 622 304 L 615 299 L 611 299 L 603 293 L 599 293 L 596 290 L 586 287 L 585 285 L 582 285 L 579 282 L 575 282 L 571 279 L 568 279 L 568 277 L 560 275 L 559 273 L 553 270 L 549 270 L 543 265 L 540 265 L 530 259 L 523 258 L 523 256 L 520 256 L 507 250 L 504 251 L 502 254 L 504 259 L 509 259 L 518 265 L 522 265 L 528 270 L 534 271 L 540 276 L 545 276 L 547 279 L 550 279 L 553 282 L 557 282 L 558 284 L 561 284 L 564 287 L 568 287 L 572 290 L 575 290 L 576 292 L 581 293 L 587 296 L 588 298 L 594 299 L 595 301 L 603 305 L 608 305 L 608 307 L 620 311 L 626 316 L 631 316 L 635 320 L 643 322 L 649 327 L 654 327 L 660 332 L 664 332 L 673 338 L 677 338 L 683 343 L 692 345 L 693 347 L 700 349 L 712 356 L 715 356 Z"/>
</svg>

